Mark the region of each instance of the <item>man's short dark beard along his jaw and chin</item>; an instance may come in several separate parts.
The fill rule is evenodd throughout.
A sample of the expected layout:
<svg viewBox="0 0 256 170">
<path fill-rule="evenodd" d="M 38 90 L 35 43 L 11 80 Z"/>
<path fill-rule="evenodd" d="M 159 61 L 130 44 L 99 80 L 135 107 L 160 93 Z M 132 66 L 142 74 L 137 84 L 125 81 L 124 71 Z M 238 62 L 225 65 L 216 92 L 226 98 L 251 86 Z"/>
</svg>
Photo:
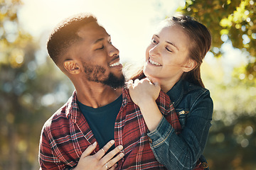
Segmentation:
<svg viewBox="0 0 256 170">
<path fill-rule="evenodd" d="M 99 65 L 93 64 L 83 64 L 85 68 L 85 74 L 87 74 L 87 79 L 89 81 L 102 83 L 107 86 L 111 86 L 114 89 L 124 86 L 124 75 L 121 74 L 120 77 L 115 76 L 112 72 L 105 75 L 106 69 Z"/>
</svg>

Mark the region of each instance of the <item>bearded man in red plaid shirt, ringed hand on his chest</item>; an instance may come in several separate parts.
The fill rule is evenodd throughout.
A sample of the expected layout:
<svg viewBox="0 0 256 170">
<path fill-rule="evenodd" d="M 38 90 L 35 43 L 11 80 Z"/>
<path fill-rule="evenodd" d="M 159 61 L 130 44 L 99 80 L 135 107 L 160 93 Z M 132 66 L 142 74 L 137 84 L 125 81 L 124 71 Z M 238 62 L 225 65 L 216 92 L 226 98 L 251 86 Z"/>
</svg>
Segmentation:
<svg viewBox="0 0 256 170">
<path fill-rule="evenodd" d="M 164 169 L 150 149 L 138 106 L 122 88 L 119 51 L 97 19 L 68 18 L 55 28 L 47 47 L 75 91 L 43 126 L 41 169 Z M 176 114 L 170 114 L 169 98 L 161 92 L 156 102 L 171 121 Z"/>
</svg>

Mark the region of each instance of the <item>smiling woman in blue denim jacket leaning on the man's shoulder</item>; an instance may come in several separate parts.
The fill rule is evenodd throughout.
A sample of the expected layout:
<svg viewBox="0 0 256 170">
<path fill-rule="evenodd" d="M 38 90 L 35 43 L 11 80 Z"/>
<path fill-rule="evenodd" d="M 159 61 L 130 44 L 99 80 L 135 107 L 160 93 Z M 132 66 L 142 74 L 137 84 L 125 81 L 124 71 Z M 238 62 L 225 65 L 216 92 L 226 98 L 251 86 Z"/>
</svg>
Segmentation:
<svg viewBox="0 0 256 170">
<path fill-rule="evenodd" d="M 129 83 L 130 96 L 149 129 L 151 149 L 167 169 L 208 169 L 202 154 L 213 101 L 201 80 L 200 66 L 210 44 L 209 30 L 190 16 L 167 18 L 146 49 L 143 71 Z M 179 115 L 182 131 L 178 135 L 156 106 L 160 89 Z"/>
</svg>

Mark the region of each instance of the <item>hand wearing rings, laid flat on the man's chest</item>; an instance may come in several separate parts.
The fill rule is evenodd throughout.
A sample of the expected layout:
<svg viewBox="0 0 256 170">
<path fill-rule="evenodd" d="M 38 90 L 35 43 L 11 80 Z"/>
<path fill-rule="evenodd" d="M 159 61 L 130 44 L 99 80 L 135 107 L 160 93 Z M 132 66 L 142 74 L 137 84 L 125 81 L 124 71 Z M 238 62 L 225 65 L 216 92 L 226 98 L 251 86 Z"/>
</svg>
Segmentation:
<svg viewBox="0 0 256 170">
<path fill-rule="evenodd" d="M 110 140 L 102 149 L 96 154 L 90 155 L 97 146 L 97 142 L 87 147 L 80 157 L 78 165 L 74 170 L 85 170 L 85 169 L 114 169 L 117 166 L 117 162 L 124 157 L 123 153 L 119 153 L 122 150 L 122 145 L 117 146 L 111 152 L 107 152 L 110 147 L 114 145 L 114 140 Z M 119 154 L 118 154 L 119 153 Z M 117 157 L 114 157 L 116 154 Z"/>
</svg>

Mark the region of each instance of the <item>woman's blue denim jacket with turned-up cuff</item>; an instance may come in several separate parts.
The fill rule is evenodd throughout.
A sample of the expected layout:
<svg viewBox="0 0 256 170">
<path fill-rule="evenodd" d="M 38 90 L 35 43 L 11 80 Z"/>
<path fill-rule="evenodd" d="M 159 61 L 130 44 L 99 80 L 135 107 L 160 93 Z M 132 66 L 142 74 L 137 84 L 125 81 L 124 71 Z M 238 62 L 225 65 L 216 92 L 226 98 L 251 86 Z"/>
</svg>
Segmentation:
<svg viewBox="0 0 256 170">
<path fill-rule="evenodd" d="M 213 100 L 207 89 L 185 80 L 178 81 L 167 94 L 183 130 L 176 135 L 163 117 L 156 130 L 147 134 L 152 140 L 151 149 L 167 169 L 193 169 L 198 159 L 206 162 L 202 154 L 211 126 Z"/>
</svg>

